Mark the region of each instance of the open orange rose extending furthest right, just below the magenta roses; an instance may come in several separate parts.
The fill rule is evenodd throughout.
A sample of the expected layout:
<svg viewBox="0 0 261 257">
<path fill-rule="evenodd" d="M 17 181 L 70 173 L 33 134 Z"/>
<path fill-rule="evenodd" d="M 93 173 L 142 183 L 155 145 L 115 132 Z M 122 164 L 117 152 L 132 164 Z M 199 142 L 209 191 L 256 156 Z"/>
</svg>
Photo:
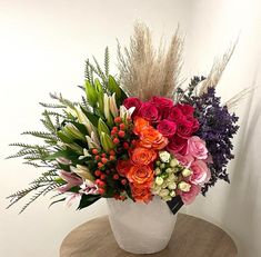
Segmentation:
<svg viewBox="0 0 261 257">
<path fill-rule="evenodd" d="M 145 128 L 140 132 L 140 146 L 157 150 L 161 150 L 168 145 L 168 138 L 152 127 Z"/>
</svg>

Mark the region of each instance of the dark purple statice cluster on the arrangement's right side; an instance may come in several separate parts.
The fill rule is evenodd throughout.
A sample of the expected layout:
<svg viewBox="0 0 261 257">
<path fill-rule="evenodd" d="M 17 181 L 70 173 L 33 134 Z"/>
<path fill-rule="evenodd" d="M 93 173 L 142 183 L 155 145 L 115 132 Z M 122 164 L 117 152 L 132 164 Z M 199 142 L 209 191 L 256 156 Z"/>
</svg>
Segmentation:
<svg viewBox="0 0 261 257">
<path fill-rule="evenodd" d="M 220 97 L 215 96 L 214 88 L 209 88 L 201 96 L 192 96 L 190 103 L 194 106 L 195 117 L 200 122 L 195 135 L 205 141 L 213 159 L 213 162 L 209 164 L 211 179 L 202 187 L 202 194 L 205 195 L 209 187 L 213 186 L 218 179 L 230 182 L 227 165 L 234 157 L 231 140 L 239 129 L 235 125 L 239 118 L 234 113 L 229 113 L 227 106 L 221 106 Z"/>
</svg>

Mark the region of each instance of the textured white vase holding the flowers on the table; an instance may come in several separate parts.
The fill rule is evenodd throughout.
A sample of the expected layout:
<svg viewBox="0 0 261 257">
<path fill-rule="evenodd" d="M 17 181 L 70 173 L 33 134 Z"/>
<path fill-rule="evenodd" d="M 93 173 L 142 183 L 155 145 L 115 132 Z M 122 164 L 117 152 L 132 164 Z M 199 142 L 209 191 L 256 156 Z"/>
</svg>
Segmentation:
<svg viewBox="0 0 261 257">
<path fill-rule="evenodd" d="M 107 202 L 111 229 L 120 248 L 132 254 L 153 254 L 167 247 L 177 215 L 159 197 L 149 204 L 113 198 Z"/>
</svg>

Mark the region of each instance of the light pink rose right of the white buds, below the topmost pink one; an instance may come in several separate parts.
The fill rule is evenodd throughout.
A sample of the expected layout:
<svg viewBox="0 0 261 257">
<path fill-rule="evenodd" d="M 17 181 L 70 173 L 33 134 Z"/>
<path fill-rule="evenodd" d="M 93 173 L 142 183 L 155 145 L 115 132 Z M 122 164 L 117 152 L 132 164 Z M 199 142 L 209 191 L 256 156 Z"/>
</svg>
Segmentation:
<svg viewBox="0 0 261 257">
<path fill-rule="evenodd" d="M 211 174 L 203 160 L 195 160 L 191 164 L 192 175 L 190 181 L 195 185 L 202 185 L 210 180 Z"/>
</svg>

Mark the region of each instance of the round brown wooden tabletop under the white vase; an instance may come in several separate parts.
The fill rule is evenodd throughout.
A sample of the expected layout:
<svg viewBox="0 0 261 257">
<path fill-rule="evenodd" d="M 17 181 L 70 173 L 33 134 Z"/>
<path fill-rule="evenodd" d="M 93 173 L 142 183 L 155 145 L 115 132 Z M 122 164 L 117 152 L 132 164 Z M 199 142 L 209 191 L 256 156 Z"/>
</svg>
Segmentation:
<svg viewBox="0 0 261 257">
<path fill-rule="evenodd" d="M 107 216 L 73 229 L 62 241 L 60 257 L 234 257 L 231 237 L 203 219 L 179 214 L 169 246 L 153 255 L 132 255 L 120 249 Z"/>
</svg>

